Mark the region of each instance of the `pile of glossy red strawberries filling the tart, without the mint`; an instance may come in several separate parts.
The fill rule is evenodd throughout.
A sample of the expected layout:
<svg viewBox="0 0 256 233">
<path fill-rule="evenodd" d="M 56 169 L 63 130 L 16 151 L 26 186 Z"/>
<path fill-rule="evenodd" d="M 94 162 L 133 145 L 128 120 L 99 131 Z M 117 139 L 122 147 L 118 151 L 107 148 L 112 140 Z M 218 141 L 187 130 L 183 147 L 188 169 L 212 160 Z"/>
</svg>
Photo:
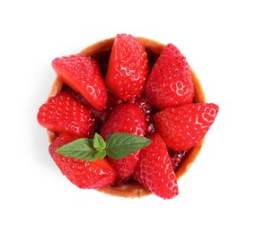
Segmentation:
<svg viewBox="0 0 256 233">
<path fill-rule="evenodd" d="M 193 102 L 190 65 L 179 49 L 168 44 L 151 69 L 139 40 L 119 34 L 106 75 L 93 57 L 81 54 L 56 58 L 52 66 L 65 86 L 40 107 L 37 117 L 40 125 L 58 135 L 49 153 L 61 172 L 80 188 L 122 186 L 136 180 L 164 199 L 177 195 L 170 151 L 190 151 L 218 112 L 216 104 Z M 77 160 L 56 151 L 95 133 L 104 140 L 110 134 L 127 133 L 152 142 L 119 160 L 108 156 Z"/>
</svg>

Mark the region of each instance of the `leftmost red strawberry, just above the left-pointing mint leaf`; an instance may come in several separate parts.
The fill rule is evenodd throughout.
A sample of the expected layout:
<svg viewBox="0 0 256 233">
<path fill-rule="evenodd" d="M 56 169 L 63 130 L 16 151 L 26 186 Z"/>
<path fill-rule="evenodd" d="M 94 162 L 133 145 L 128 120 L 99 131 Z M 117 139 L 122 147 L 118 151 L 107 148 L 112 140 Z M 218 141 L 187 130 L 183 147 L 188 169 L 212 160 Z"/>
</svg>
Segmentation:
<svg viewBox="0 0 256 233">
<path fill-rule="evenodd" d="M 91 112 L 66 91 L 50 97 L 40 107 L 37 117 L 40 125 L 59 134 L 66 132 L 77 137 L 88 137 L 93 133 Z"/>
</svg>

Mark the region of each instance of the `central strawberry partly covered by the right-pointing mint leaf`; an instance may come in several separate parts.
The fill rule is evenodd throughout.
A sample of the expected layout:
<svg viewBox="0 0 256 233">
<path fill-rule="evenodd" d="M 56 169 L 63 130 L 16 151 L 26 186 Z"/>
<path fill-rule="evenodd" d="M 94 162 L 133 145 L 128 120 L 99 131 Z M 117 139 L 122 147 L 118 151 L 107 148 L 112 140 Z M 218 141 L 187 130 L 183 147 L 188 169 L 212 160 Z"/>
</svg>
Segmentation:
<svg viewBox="0 0 256 233">
<path fill-rule="evenodd" d="M 143 136 L 146 132 L 144 111 L 135 104 L 120 104 L 115 107 L 107 122 L 102 125 L 102 138 L 106 140 L 110 134 L 128 133 Z M 109 158 L 110 164 L 118 171 L 118 177 L 131 175 L 137 163 L 138 151 L 119 160 Z"/>
</svg>

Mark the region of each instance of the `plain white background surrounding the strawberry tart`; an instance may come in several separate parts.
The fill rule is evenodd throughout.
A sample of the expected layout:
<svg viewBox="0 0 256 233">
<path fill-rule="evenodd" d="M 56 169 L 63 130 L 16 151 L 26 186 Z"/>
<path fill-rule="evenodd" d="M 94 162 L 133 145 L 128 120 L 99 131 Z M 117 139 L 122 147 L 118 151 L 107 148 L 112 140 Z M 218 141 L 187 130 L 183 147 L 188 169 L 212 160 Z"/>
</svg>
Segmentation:
<svg viewBox="0 0 256 233">
<path fill-rule="evenodd" d="M 167 4 L 168 3 L 168 4 Z M 1 1 L 0 232 L 256 232 L 254 1 Z M 51 60 L 130 33 L 171 42 L 219 105 L 180 194 L 123 199 L 61 176 L 36 115 Z"/>
</svg>

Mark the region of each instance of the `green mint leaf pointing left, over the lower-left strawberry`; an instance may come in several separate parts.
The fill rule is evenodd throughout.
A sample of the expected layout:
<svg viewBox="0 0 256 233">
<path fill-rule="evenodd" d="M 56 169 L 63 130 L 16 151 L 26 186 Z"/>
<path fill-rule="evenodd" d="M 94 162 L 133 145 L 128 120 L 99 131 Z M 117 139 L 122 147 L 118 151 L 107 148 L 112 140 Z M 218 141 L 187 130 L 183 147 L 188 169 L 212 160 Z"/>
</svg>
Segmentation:
<svg viewBox="0 0 256 233">
<path fill-rule="evenodd" d="M 66 155 L 77 160 L 94 161 L 97 160 L 99 151 L 93 147 L 93 140 L 90 138 L 80 138 L 74 142 L 66 143 L 59 147 L 57 153 Z M 102 157 L 102 154 L 101 154 Z"/>
</svg>

